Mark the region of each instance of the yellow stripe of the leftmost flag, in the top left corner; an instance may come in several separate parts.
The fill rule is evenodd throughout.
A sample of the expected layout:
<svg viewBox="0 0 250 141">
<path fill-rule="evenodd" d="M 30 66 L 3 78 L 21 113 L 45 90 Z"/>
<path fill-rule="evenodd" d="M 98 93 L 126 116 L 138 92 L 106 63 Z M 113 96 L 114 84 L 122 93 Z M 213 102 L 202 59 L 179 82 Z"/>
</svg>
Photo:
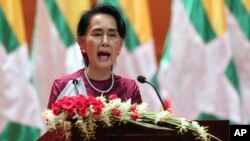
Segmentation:
<svg viewBox="0 0 250 141">
<path fill-rule="evenodd" d="M 10 27 L 14 31 L 20 44 L 26 42 L 24 21 L 23 21 L 23 9 L 21 7 L 20 0 L 0 0 L 3 13 L 10 24 Z"/>
</svg>

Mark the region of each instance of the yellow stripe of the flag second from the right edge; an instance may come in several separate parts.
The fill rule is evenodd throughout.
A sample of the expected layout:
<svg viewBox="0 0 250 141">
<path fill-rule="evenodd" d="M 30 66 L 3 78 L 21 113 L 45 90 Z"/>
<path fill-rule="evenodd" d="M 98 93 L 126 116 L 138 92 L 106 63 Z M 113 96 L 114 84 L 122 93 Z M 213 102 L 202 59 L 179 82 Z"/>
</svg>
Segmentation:
<svg viewBox="0 0 250 141">
<path fill-rule="evenodd" d="M 221 36 L 226 31 L 224 0 L 202 0 L 202 4 L 216 35 Z"/>
</svg>

